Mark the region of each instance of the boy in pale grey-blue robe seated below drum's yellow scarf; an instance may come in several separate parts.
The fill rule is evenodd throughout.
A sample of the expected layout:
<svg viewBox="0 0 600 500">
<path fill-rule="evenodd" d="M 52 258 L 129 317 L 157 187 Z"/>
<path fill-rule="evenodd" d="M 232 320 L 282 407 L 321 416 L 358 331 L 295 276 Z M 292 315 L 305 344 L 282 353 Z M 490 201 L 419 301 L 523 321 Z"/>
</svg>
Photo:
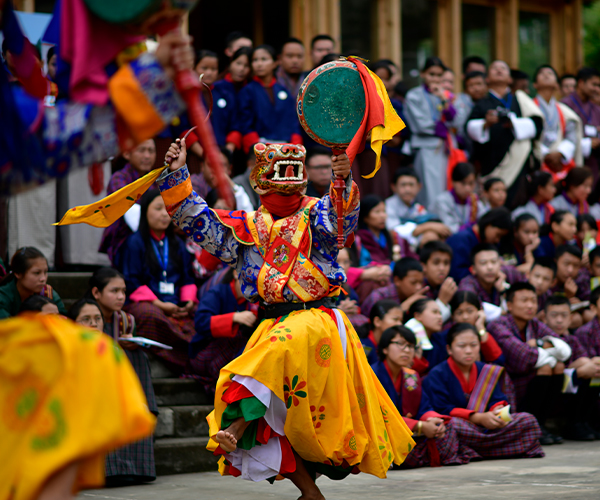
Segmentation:
<svg viewBox="0 0 600 500">
<path fill-rule="evenodd" d="M 432 220 L 434 216 L 417 203 L 421 182 L 413 168 L 396 170 L 391 188 L 394 194 L 385 200 L 388 231 L 395 230 L 413 246 L 450 236 L 450 229 Z"/>
</svg>

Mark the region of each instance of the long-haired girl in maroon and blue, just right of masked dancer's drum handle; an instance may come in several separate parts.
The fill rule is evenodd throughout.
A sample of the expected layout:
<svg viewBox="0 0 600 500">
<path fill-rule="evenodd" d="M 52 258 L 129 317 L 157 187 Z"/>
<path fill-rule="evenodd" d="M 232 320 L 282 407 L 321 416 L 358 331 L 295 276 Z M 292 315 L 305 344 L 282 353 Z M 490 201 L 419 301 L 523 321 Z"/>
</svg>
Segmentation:
<svg viewBox="0 0 600 500">
<path fill-rule="evenodd" d="M 385 204 L 374 194 L 363 196 L 358 216 L 359 230 L 356 232 L 362 245 L 359 266 L 369 264 L 389 265 L 393 260 L 394 242 L 385 226 Z M 404 253 L 407 245 L 405 243 Z"/>
</svg>

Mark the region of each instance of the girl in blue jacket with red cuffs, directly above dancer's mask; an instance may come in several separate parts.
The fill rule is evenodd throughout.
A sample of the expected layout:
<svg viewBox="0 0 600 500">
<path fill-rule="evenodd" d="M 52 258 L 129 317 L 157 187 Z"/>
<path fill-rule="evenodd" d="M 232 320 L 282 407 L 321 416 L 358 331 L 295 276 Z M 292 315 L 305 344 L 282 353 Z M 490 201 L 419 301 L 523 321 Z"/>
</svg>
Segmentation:
<svg viewBox="0 0 600 500">
<path fill-rule="evenodd" d="M 257 142 L 302 144 L 296 96 L 275 79 L 275 49 L 259 45 L 252 51 L 251 63 L 254 79 L 238 94 L 234 127 L 241 134 L 244 151 Z"/>
</svg>

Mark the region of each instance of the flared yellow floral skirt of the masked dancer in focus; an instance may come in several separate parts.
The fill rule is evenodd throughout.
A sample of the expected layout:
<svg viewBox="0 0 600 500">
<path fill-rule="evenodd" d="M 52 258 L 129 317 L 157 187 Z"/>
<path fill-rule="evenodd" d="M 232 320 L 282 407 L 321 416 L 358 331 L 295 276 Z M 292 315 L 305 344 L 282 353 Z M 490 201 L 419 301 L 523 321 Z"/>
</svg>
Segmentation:
<svg viewBox="0 0 600 500">
<path fill-rule="evenodd" d="M 235 374 L 261 382 L 287 403 L 285 436 L 304 460 L 330 465 L 345 460 L 380 478 L 392 462 L 401 464 L 414 446 L 412 433 L 342 316 L 346 359 L 337 325 L 323 310 L 296 311 L 278 323 L 263 320 L 244 353 L 221 369 L 207 448 L 217 448 L 214 437 L 227 407 L 222 396 Z"/>
</svg>

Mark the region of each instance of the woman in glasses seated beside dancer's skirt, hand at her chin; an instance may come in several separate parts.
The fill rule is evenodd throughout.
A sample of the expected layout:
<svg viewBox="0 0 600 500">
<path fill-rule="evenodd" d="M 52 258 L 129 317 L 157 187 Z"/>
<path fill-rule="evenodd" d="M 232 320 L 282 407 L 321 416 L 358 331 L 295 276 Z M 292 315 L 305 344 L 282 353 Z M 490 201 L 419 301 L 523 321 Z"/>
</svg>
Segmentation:
<svg viewBox="0 0 600 500">
<path fill-rule="evenodd" d="M 405 326 L 388 328 L 379 343 L 379 361 L 373 365 L 375 375 L 417 442 L 402 467 L 460 465 L 479 458 L 458 441 L 449 418 L 432 410 L 421 377 L 410 368 L 415 345 L 415 334 Z"/>
</svg>

